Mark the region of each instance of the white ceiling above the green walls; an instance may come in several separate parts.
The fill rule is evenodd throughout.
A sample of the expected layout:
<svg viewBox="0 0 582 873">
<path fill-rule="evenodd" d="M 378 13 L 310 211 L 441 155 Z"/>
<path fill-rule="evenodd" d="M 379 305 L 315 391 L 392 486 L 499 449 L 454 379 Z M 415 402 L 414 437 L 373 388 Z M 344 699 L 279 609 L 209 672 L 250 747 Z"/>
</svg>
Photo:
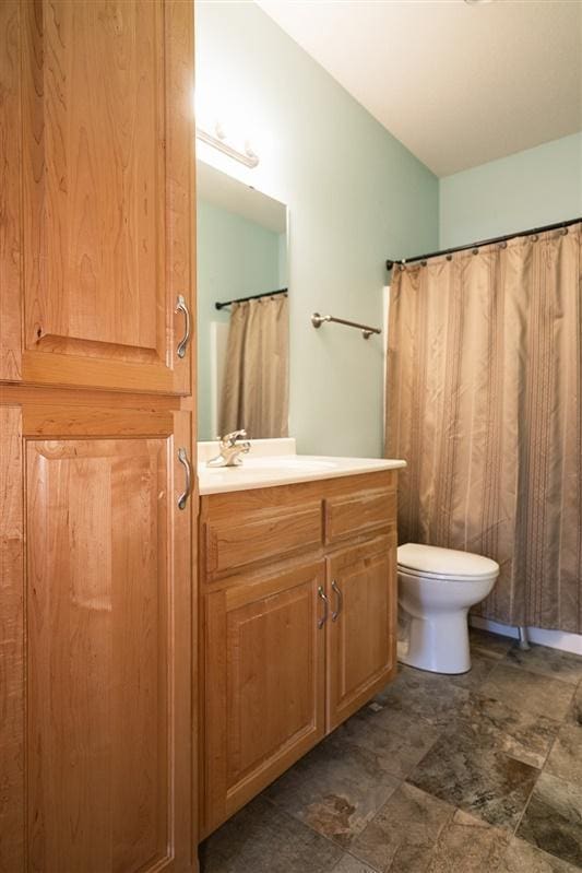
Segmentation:
<svg viewBox="0 0 582 873">
<path fill-rule="evenodd" d="M 582 1 L 257 0 L 438 176 L 582 129 Z"/>
</svg>

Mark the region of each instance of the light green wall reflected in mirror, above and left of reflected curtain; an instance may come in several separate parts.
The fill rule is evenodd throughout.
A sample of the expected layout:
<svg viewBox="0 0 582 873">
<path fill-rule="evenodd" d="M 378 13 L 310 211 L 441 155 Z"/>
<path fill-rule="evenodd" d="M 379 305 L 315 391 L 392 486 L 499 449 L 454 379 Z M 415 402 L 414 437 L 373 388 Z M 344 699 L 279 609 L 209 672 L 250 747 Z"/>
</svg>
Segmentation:
<svg viewBox="0 0 582 873">
<path fill-rule="evenodd" d="M 198 433 L 200 439 L 214 439 L 210 322 L 228 321 L 228 311 L 216 309 L 214 304 L 280 287 L 280 238 L 285 239 L 285 235 L 200 199 L 197 224 Z"/>
</svg>

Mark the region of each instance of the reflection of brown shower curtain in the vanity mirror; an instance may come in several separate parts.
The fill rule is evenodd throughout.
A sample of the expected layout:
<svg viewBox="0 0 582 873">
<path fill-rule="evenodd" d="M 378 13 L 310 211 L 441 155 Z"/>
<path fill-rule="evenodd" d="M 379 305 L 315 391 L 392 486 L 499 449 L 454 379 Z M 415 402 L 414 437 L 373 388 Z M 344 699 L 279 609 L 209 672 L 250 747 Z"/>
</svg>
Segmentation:
<svg viewBox="0 0 582 873">
<path fill-rule="evenodd" d="M 234 303 L 218 415 L 221 434 L 288 435 L 287 295 Z"/>
</svg>

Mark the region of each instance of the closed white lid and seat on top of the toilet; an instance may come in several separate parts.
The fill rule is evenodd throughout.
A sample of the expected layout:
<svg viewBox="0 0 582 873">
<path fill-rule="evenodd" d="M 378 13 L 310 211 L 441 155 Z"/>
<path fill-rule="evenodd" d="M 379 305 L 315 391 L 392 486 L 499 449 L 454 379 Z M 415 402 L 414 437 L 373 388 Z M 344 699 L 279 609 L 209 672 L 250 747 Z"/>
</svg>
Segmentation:
<svg viewBox="0 0 582 873">
<path fill-rule="evenodd" d="M 476 579 L 499 573 L 499 564 L 491 558 L 455 548 L 406 543 L 399 546 L 397 553 L 399 566 L 403 569 L 435 577 Z"/>
</svg>

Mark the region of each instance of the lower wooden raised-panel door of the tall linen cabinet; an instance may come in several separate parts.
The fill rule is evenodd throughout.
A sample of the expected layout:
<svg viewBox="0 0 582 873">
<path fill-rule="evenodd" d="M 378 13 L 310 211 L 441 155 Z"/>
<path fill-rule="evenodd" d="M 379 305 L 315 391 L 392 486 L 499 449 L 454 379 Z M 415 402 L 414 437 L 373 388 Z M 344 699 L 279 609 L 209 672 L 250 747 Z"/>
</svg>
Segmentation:
<svg viewBox="0 0 582 873">
<path fill-rule="evenodd" d="M 24 480 L 27 543 L 25 593 L 10 548 L 0 590 L 9 620 L 23 614 L 8 625 L 4 869 L 186 873 L 190 416 L 24 406 L 22 432 L 24 464 L 3 476 L 16 494 Z M 17 439 L 3 443 L 17 461 Z"/>
</svg>

